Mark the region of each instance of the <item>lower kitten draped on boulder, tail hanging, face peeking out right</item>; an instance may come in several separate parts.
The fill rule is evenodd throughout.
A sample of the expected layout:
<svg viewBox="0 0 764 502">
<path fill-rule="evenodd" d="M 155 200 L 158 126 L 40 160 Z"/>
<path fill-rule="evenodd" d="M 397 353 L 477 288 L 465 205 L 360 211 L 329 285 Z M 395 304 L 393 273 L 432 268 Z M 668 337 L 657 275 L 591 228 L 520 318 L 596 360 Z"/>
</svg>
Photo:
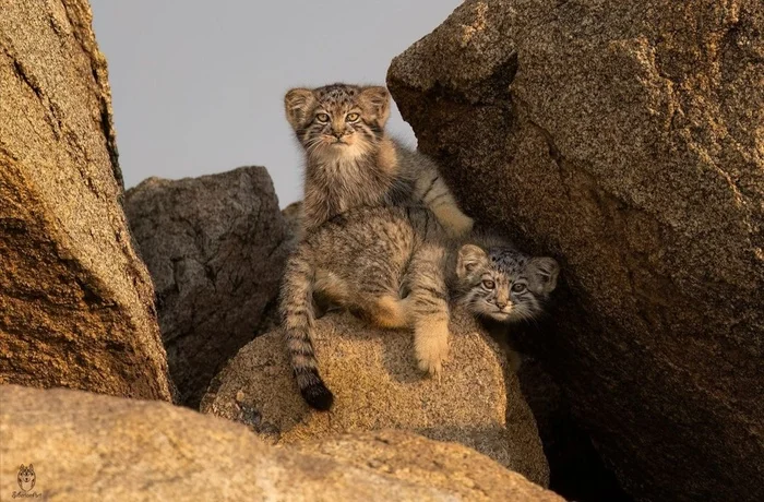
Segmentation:
<svg viewBox="0 0 764 502">
<path fill-rule="evenodd" d="M 503 322 L 529 319 L 557 282 L 557 262 L 511 248 L 446 239 L 426 208 L 357 207 L 308 234 L 287 261 L 280 312 L 291 367 L 306 402 L 333 395 L 313 351 L 313 295 L 381 327 L 414 330 L 418 367 L 440 374 L 449 351 L 449 300 Z M 521 288 L 520 285 L 523 285 Z"/>
</svg>

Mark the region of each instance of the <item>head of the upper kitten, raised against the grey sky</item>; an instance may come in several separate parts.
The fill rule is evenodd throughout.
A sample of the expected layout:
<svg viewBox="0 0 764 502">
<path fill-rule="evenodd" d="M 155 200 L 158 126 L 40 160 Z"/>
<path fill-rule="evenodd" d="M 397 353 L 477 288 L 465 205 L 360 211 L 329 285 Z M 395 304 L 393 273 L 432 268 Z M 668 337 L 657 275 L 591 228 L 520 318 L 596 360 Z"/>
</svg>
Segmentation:
<svg viewBox="0 0 764 502">
<path fill-rule="evenodd" d="M 284 107 L 308 155 L 355 159 L 379 148 L 390 94 L 381 86 L 346 84 L 293 88 L 284 96 Z"/>
</svg>

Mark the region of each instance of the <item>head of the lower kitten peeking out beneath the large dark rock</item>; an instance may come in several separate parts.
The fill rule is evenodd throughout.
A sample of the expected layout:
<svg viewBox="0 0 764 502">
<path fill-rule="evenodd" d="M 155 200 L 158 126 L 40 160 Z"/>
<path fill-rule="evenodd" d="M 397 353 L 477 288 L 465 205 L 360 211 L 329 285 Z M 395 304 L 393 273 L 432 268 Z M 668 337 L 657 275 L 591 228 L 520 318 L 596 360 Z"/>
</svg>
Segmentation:
<svg viewBox="0 0 764 502">
<path fill-rule="evenodd" d="M 541 314 L 559 272 L 551 258 L 530 258 L 505 247 L 486 251 L 466 244 L 456 263 L 462 302 L 473 314 L 501 322 Z"/>
</svg>

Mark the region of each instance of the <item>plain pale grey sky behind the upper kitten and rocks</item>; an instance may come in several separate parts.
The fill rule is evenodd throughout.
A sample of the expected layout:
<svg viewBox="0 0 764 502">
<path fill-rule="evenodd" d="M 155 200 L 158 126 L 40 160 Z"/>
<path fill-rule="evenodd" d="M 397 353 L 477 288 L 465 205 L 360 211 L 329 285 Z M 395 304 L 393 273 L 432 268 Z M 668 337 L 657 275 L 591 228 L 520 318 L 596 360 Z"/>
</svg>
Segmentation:
<svg viewBox="0 0 764 502">
<path fill-rule="evenodd" d="M 302 162 L 284 93 L 383 84 L 392 58 L 459 3 L 91 0 L 126 186 L 262 165 L 282 207 L 300 199 Z M 414 144 L 397 110 L 389 128 Z"/>
</svg>

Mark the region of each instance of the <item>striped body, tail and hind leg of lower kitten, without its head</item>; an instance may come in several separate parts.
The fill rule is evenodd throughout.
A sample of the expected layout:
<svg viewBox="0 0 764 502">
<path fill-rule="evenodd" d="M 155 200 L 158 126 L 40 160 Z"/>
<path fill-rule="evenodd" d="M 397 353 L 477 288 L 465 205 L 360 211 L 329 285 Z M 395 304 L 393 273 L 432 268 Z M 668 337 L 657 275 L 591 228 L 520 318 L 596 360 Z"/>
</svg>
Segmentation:
<svg viewBox="0 0 764 502">
<path fill-rule="evenodd" d="M 280 291 L 286 345 L 297 385 L 315 409 L 332 406 L 312 343 L 313 295 L 370 323 L 414 331 L 419 368 L 439 375 L 449 350 L 449 246 L 421 207 L 357 207 L 306 235 Z"/>
</svg>

